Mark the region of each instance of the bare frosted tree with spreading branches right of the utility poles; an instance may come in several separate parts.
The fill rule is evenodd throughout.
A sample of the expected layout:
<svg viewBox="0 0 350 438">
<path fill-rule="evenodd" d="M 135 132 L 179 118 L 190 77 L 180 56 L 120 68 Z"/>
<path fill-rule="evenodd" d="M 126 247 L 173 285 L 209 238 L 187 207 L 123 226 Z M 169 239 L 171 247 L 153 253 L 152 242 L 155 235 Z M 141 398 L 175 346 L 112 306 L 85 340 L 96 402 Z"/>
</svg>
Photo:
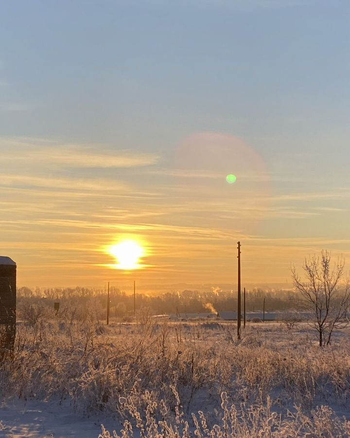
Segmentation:
<svg viewBox="0 0 350 438">
<path fill-rule="evenodd" d="M 320 257 L 305 258 L 302 266 L 305 282 L 292 267 L 294 287 L 300 292 L 303 307 L 310 312 L 320 347 L 330 344 L 334 329 L 344 329 L 348 325 L 350 283 L 349 279 L 342 281 L 344 266 L 344 258 L 340 257 L 332 267 L 331 254 L 322 251 Z"/>
</svg>

